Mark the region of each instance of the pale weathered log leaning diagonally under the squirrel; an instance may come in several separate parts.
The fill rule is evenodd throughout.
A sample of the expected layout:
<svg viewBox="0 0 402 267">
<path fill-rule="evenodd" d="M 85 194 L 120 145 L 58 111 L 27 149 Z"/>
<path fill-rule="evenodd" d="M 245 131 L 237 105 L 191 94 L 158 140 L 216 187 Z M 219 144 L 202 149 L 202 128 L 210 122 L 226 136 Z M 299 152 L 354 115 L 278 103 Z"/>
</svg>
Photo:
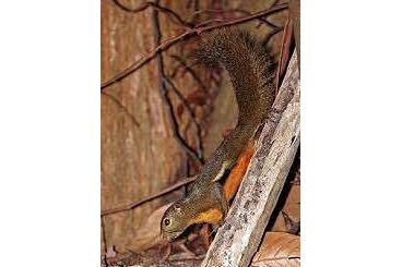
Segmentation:
<svg viewBox="0 0 402 267">
<path fill-rule="evenodd" d="M 299 145 L 296 53 L 292 57 L 274 108 L 277 112 L 264 125 L 233 206 L 202 266 L 248 266 L 258 248 Z"/>
</svg>

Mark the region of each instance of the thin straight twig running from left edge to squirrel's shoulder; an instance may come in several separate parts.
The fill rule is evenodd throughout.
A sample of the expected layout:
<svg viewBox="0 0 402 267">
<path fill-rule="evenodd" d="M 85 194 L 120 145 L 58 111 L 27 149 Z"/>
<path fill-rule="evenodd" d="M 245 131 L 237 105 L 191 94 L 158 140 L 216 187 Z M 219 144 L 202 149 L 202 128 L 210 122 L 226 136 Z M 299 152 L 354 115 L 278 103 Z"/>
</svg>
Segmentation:
<svg viewBox="0 0 402 267">
<path fill-rule="evenodd" d="M 181 180 L 180 182 L 177 182 L 177 183 L 175 183 L 175 184 L 173 184 L 173 185 L 170 185 L 170 186 L 168 186 L 168 187 L 166 187 L 166 189 L 164 189 L 159 192 L 156 192 L 155 194 L 146 196 L 146 197 L 144 197 L 142 199 L 139 199 L 137 202 L 132 202 L 129 205 L 126 205 L 123 207 L 117 207 L 117 208 L 111 208 L 111 209 L 106 209 L 104 211 L 100 211 L 100 217 L 131 210 L 131 209 L 146 203 L 146 202 L 150 202 L 150 201 L 155 199 L 159 196 L 166 195 L 167 193 L 170 193 L 172 191 L 175 191 L 175 190 L 177 190 L 177 189 L 179 189 L 184 185 L 187 185 L 187 184 L 193 182 L 196 179 L 197 179 L 197 175 L 187 178 L 187 179 Z"/>
</svg>

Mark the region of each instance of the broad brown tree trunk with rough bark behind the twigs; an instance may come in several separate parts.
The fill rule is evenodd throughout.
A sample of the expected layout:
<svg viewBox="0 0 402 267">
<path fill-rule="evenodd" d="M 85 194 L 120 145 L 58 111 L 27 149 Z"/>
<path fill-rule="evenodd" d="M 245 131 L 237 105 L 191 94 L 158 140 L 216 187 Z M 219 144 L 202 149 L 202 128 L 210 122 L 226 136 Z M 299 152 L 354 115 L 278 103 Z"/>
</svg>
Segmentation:
<svg viewBox="0 0 402 267">
<path fill-rule="evenodd" d="M 139 1 L 121 1 L 137 7 Z M 166 3 L 162 3 L 166 4 Z M 168 7 L 184 12 L 184 4 L 170 1 Z M 188 11 L 187 11 L 188 12 Z M 177 34 L 177 27 L 159 15 L 163 38 Z M 135 14 L 102 1 L 102 81 L 106 81 L 154 48 L 152 9 Z M 188 48 L 176 46 L 168 53 L 185 56 Z M 169 73 L 178 62 L 164 53 Z M 200 72 L 201 73 L 201 72 Z M 201 76 L 202 78 L 202 76 Z M 191 75 L 175 80 L 186 96 L 198 84 Z M 102 210 L 118 207 L 157 192 L 188 175 L 187 155 L 172 134 L 172 125 L 162 102 L 155 60 L 105 89 L 102 95 Z M 169 94 L 175 107 L 178 99 Z M 197 110 L 199 111 L 199 110 Z M 187 139 L 196 136 L 194 125 L 185 110 L 179 119 L 180 132 Z M 193 142 L 190 142 L 194 145 Z M 170 196 L 172 198 L 172 196 Z M 155 199 L 141 207 L 105 217 L 107 246 L 130 248 L 130 241 L 143 218 L 167 199 Z"/>
</svg>

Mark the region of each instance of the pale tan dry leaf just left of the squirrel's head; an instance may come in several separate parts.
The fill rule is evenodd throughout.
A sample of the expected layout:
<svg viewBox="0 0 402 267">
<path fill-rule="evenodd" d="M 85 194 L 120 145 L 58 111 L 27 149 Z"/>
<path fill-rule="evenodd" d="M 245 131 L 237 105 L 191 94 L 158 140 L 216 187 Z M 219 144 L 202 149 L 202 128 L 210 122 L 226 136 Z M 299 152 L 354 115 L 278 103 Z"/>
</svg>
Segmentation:
<svg viewBox="0 0 402 267">
<path fill-rule="evenodd" d="M 131 242 L 131 250 L 134 252 L 145 251 L 162 241 L 161 235 L 161 220 L 166 209 L 172 203 L 154 210 L 141 224 L 135 232 L 133 241 Z"/>
</svg>

